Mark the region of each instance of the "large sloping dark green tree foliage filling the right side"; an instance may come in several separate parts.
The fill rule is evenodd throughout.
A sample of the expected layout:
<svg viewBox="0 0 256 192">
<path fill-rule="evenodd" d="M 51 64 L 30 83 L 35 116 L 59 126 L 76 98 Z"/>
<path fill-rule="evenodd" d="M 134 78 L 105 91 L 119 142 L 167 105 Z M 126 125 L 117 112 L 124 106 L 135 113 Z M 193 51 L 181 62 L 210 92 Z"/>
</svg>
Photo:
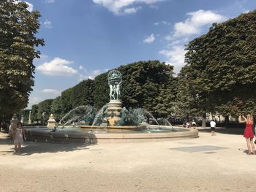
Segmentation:
<svg viewBox="0 0 256 192">
<path fill-rule="evenodd" d="M 190 112 L 256 111 L 256 11 L 216 24 L 187 45 L 180 81 Z M 182 84 L 182 83 L 181 83 Z M 179 96 L 177 95 L 179 99 Z M 182 101 L 181 110 L 185 112 Z M 193 105 L 196 104 L 196 106 Z M 181 112 L 182 113 L 182 112 Z"/>
</svg>

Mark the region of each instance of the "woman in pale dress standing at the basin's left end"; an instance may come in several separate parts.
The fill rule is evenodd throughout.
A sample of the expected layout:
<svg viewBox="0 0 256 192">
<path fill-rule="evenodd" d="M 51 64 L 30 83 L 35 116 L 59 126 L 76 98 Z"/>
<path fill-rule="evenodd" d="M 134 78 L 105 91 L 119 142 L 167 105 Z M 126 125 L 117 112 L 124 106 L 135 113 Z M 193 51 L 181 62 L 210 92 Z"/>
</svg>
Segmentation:
<svg viewBox="0 0 256 192">
<path fill-rule="evenodd" d="M 17 124 L 17 128 L 15 128 L 13 132 L 13 137 L 14 137 L 15 152 L 20 153 L 21 145 L 23 145 L 23 137 L 26 139 L 22 123 L 19 122 Z"/>
</svg>

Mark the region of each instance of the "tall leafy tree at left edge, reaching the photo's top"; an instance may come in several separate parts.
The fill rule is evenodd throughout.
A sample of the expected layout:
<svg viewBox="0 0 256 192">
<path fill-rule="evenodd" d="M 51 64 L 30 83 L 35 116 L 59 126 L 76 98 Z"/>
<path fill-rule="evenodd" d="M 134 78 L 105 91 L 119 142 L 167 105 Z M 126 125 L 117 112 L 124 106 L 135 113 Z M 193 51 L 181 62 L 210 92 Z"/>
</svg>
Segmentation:
<svg viewBox="0 0 256 192">
<path fill-rule="evenodd" d="M 0 118 L 27 106 L 34 86 L 35 47 L 44 45 L 35 34 L 39 12 L 29 12 L 24 2 L 0 1 Z"/>
</svg>

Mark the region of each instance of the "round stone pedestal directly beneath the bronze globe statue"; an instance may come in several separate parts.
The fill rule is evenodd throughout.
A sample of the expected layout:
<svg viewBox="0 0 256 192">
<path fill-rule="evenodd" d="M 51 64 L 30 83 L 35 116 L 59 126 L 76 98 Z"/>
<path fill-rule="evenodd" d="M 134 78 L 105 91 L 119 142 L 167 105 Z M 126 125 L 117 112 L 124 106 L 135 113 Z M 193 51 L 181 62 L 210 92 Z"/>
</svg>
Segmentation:
<svg viewBox="0 0 256 192">
<path fill-rule="evenodd" d="M 114 126 L 121 116 L 121 100 L 110 100 L 108 103 L 108 125 Z"/>
</svg>

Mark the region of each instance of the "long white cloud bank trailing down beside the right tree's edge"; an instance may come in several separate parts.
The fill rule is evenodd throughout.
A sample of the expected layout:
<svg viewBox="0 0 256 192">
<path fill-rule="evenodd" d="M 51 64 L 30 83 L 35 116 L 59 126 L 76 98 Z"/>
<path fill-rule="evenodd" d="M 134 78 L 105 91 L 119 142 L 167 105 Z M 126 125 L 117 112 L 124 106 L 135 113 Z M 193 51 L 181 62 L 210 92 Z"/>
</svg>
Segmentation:
<svg viewBox="0 0 256 192">
<path fill-rule="evenodd" d="M 203 31 L 202 29 L 206 26 L 210 26 L 212 23 L 218 23 L 226 19 L 224 15 L 219 15 L 211 10 L 202 9 L 196 12 L 188 12 L 187 16 L 188 18 L 183 22 L 174 24 L 173 31 L 171 31 L 170 35 L 165 37 L 168 42 L 167 48 L 159 51 L 160 54 L 165 55 L 167 63 L 174 66 L 174 72 L 176 73 L 178 73 L 184 66 L 186 53 L 184 45 L 189 42 L 191 35 L 201 34 Z M 160 23 L 155 23 L 156 26 L 159 24 Z"/>
</svg>

